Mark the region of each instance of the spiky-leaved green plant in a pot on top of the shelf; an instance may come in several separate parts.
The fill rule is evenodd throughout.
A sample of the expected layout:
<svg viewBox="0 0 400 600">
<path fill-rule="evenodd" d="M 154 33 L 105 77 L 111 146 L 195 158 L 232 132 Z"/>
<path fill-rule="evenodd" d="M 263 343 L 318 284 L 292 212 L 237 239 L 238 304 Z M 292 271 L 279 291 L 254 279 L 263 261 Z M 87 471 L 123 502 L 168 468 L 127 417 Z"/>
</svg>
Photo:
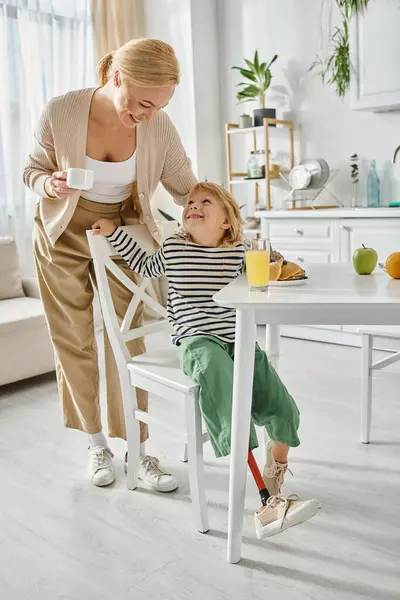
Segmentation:
<svg viewBox="0 0 400 600">
<path fill-rule="evenodd" d="M 258 99 L 260 108 L 256 108 L 254 111 L 254 125 L 259 127 L 264 124 L 264 119 L 275 119 L 276 110 L 274 108 L 265 108 L 265 94 L 271 85 L 271 65 L 276 61 L 278 55 L 275 54 L 272 60 L 267 64 L 266 62 L 260 63 L 258 58 L 258 50 L 254 53 L 253 62 L 244 59 L 247 65 L 246 67 L 232 67 L 246 79 L 237 84 L 237 87 L 241 89 L 237 92 L 236 98 L 238 102 L 248 102 L 251 100 Z"/>
</svg>

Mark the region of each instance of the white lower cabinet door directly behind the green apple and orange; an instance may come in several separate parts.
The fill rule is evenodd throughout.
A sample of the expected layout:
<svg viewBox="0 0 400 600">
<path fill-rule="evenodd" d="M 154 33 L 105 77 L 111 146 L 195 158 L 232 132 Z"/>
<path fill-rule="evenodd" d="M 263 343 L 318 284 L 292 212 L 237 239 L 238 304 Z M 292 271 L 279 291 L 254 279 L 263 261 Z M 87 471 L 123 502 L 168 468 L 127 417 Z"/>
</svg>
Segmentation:
<svg viewBox="0 0 400 600">
<path fill-rule="evenodd" d="M 400 251 L 400 219 L 343 219 L 340 222 L 340 259 L 350 262 L 361 246 L 377 251 L 379 262 Z"/>
</svg>

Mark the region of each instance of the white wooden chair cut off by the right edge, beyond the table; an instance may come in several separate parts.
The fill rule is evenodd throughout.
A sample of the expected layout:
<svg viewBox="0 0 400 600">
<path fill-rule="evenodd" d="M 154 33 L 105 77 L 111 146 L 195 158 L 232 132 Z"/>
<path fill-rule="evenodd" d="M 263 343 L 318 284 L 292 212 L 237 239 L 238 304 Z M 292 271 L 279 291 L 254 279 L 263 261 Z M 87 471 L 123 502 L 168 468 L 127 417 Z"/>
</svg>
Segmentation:
<svg viewBox="0 0 400 600">
<path fill-rule="evenodd" d="M 372 421 L 372 375 L 400 360 L 400 352 L 396 349 L 392 353 L 373 362 L 374 348 L 387 349 L 394 340 L 400 340 L 399 327 L 370 327 L 360 328 L 361 333 L 361 441 L 369 444 L 371 439 Z M 390 342 L 389 342 L 390 340 Z"/>
</svg>

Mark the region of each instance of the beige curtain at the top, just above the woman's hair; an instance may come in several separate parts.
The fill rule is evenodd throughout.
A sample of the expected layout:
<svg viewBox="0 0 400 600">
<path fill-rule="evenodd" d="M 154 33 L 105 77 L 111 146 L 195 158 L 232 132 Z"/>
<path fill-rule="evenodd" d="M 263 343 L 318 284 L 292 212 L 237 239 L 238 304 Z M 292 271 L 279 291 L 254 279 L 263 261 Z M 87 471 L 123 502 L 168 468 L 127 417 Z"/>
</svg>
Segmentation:
<svg viewBox="0 0 400 600">
<path fill-rule="evenodd" d="M 92 0 L 96 57 L 144 35 L 142 0 Z"/>
</svg>

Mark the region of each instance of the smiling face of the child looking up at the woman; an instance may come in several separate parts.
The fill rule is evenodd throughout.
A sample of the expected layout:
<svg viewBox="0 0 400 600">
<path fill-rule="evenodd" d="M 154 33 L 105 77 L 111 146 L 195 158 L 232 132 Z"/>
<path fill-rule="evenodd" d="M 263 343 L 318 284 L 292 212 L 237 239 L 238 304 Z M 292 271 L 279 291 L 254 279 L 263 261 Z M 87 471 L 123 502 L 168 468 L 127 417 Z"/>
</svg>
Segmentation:
<svg viewBox="0 0 400 600">
<path fill-rule="evenodd" d="M 224 207 L 202 189 L 190 196 L 183 211 L 183 225 L 193 241 L 201 246 L 219 246 L 229 229 Z"/>
</svg>

